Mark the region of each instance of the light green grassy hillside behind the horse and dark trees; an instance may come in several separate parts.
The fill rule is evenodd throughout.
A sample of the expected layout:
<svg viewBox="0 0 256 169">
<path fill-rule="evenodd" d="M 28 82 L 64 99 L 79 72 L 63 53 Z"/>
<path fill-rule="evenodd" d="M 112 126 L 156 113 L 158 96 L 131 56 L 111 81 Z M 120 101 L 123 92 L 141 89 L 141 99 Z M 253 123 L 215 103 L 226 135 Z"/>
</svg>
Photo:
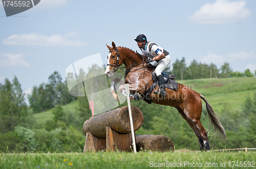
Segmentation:
<svg viewBox="0 0 256 169">
<path fill-rule="evenodd" d="M 196 92 L 204 95 L 216 112 L 229 105 L 231 110 L 241 110 L 242 104 L 248 96 L 256 92 L 256 78 L 208 78 L 194 80 L 177 80 Z M 77 101 L 63 106 L 64 110 L 75 109 Z M 40 112 L 34 115 L 38 124 L 53 117 L 52 110 Z"/>
</svg>

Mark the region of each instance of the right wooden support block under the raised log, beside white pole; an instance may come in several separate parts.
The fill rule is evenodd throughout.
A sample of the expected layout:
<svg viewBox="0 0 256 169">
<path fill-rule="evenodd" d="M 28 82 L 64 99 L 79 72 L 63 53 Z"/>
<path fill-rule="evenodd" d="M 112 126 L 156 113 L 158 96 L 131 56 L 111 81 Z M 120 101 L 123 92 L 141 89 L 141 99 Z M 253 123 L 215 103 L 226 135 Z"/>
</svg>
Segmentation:
<svg viewBox="0 0 256 169">
<path fill-rule="evenodd" d="M 102 138 L 103 139 L 103 138 Z M 106 127 L 106 151 L 132 151 L 132 133 L 118 133 Z"/>
</svg>

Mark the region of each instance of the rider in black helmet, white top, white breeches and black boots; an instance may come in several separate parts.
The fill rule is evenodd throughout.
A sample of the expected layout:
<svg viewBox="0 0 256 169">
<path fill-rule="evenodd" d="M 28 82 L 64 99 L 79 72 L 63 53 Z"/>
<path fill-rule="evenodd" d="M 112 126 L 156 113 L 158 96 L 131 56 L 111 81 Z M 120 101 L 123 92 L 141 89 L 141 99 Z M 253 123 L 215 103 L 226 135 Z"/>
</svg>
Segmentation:
<svg viewBox="0 0 256 169">
<path fill-rule="evenodd" d="M 138 35 L 134 40 L 137 42 L 138 47 L 142 51 L 142 55 L 146 55 L 148 57 L 146 63 L 157 66 L 155 72 L 160 87 L 159 93 L 165 96 L 166 92 L 164 89 L 164 78 L 162 71 L 164 71 L 170 63 L 169 53 L 156 43 L 148 42 L 146 40 L 146 36 L 143 34 Z"/>
</svg>

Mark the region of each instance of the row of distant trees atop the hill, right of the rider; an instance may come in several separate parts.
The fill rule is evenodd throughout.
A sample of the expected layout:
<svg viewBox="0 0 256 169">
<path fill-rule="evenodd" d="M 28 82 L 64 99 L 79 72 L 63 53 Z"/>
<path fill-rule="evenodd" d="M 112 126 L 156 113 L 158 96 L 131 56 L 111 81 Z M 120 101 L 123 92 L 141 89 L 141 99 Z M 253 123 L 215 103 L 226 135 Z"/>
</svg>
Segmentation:
<svg viewBox="0 0 256 169">
<path fill-rule="evenodd" d="M 253 77 L 249 69 L 244 72 L 232 71 L 229 63 L 225 62 L 220 69 L 215 64 L 202 64 L 193 60 L 189 66 L 186 66 L 185 58 L 180 61 L 177 59 L 173 63 L 173 70 L 165 70 L 167 74 L 176 74 L 176 79 L 198 79 L 198 78 L 226 78 L 226 77 Z M 256 75 L 256 70 L 255 70 Z"/>
</svg>

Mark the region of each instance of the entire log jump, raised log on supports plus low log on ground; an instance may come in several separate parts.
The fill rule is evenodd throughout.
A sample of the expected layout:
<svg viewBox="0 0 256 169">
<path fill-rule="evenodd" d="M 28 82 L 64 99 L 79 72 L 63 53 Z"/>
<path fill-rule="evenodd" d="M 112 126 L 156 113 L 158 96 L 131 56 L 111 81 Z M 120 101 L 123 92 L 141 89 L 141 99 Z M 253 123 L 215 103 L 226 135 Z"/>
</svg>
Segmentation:
<svg viewBox="0 0 256 169">
<path fill-rule="evenodd" d="M 143 123 L 142 111 L 131 106 L 133 127 L 138 130 Z M 116 108 L 94 116 L 84 122 L 86 135 L 83 152 L 132 151 L 132 134 L 128 106 Z M 136 149 L 152 151 L 174 151 L 172 140 L 163 135 L 136 135 Z"/>
</svg>

